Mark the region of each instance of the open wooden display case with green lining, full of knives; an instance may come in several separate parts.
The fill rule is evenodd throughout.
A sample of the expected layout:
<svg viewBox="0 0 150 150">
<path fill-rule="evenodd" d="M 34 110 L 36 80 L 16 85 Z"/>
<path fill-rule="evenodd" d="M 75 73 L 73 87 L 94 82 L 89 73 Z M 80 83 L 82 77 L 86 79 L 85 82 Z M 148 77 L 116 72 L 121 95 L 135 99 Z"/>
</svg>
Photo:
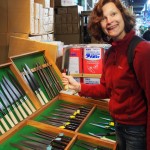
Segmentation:
<svg viewBox="0 0 150 150">
<path fill-rule="evenodd" d="M 62 89 L 61 72 L 51 61 L 48 51 L 11 57 L 10 63 L 0 66 L 0 149 L 15 150 L 15 146 L 23 149 L 25 144 L 26 149 L 32 149 L 35 143 L 47 142 L 47 139 L 36 138 L 38 133 L 35 130 L 42 130 L 57 136 L 63 134 L 70 139 L 64 147 L 57 149 L 115 150 L 114 127 L 107 102 L 62 94 Z M 26 141 L 31 138 L 31 142 Z M 50 141 L 42 149 L 63 146 L 58 144 L 60 139 L 53 139 L 54 142 Z M 43 143 L 37 145 L 40 147 Z"/>
</svg>

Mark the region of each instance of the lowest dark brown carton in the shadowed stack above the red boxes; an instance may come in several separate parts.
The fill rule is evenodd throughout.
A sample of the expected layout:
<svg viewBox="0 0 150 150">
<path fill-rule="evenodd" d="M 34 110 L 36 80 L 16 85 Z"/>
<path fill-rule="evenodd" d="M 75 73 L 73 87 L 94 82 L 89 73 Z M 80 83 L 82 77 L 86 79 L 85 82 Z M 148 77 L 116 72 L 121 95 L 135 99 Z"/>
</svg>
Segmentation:
<svg viewBox="0 0 150 150">
<path fill-rule="evenodd" d="M 65 45 L 67 44 L 79 44 L 80 43 L 80 34 L 56 34 L 56 41 L 62 41 Z"/>
</svg>

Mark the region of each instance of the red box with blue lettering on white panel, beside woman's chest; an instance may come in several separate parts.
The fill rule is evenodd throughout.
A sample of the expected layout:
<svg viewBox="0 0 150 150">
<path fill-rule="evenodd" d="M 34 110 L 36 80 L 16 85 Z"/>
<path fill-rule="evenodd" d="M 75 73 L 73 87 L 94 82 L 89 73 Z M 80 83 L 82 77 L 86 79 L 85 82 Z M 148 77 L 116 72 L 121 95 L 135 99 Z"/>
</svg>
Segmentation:
<svg viewBox="0 0 150 150">
<path fill-rule="evenodd" d="M 83 56 L 83 73 L 101 74 L 104 49 L 100 47 L 85 47 Z"/>
</svg>

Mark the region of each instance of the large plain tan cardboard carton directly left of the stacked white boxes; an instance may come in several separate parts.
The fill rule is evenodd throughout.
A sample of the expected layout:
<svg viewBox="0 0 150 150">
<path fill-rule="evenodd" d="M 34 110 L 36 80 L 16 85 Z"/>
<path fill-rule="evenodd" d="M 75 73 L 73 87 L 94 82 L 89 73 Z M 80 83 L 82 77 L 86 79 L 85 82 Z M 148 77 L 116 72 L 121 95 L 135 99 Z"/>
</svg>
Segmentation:
<svg viewBox="0 0 150 150">
<path fill-rule="evenodd" d="M 8 0 L 8 32 L 34 33 L 34 0 Z"/>
</svg>

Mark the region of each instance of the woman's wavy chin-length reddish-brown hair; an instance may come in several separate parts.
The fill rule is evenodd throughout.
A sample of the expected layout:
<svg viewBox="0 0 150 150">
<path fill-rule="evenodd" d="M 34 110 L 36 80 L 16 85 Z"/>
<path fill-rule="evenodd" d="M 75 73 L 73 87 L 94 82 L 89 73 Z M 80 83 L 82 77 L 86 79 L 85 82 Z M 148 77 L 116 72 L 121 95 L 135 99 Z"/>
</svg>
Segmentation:
<svg viewBox="0 0 150 150">
<path fill-rule="evenodd" d="M 127 8 L 120 2 L 120 0 L 99 0 L 90 14 L 90 19 L 88 22 L 88 30 L 90 34 L 98 41 L 103 40 L 108 42 L 107 35 L 101 29 L 100 19 L 103 16 L 102 7 L 109 2 L 113 2 L 120 10 L 125 22 L 126 33 L 130 32 L 131 29 L 133 29 L 135 26 L 135 16 L 130 13 L 129 10 L 127 10 Z"/>
</svg>

